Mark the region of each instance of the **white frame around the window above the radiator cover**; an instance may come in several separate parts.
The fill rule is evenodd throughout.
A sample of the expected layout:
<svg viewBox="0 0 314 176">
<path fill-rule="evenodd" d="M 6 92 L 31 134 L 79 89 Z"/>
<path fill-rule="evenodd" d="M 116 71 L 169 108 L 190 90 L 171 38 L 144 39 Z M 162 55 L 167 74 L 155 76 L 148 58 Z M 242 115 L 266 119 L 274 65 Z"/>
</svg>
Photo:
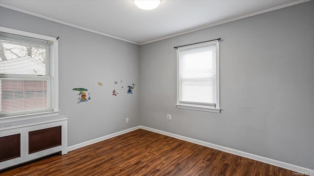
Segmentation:
<svg viewBox="0 0 314 176">
<path fill-rule="evenodd" d="M 14 121 L 22 121 L 28 119 L 35 119 L 35 118 L 43 118 L 43 117 L 50 117 L 59 115 L 59 105 L 58 105 L 58 98 L 59 98 L 59 85 L 58 85 L 58 40 L 54 37 L 35 34 L 31 32 L 26 32 L 22 30 L 16 30 L 12 28 L 2 27 L 0 26 L 1 32 L 32 37 L 42 40 L 52 41 L 52 66 L 53 66 L 53 79 L 52 79 L 52 101 L 53 101 L 53 111 L 52 112 L 43 112 L 43 113 L 36 113 L 36 114 L 26 114 L 26 115 L 18 115 L 18 116 L 9 116 L 9 117 L 2 117 L 0 118 L 0 124 L 7 123 L 7 122 L 14 122 Z"/>
</svg>

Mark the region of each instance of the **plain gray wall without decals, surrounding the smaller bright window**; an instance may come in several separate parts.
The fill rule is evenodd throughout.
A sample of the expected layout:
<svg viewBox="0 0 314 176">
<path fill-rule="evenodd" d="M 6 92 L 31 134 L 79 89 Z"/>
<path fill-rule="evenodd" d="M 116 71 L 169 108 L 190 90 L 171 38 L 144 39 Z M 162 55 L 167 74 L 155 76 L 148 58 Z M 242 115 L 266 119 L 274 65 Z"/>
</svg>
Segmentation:
<svg viewBox="0 0 314 176">
<path fill-rule="evenodd" d="M 314 169 L 313 7 L 309 1 L 140 46 L 140 124 Z M 173 47 L 219 37 L 222 112 L 176 108 Z"/>
</svg>

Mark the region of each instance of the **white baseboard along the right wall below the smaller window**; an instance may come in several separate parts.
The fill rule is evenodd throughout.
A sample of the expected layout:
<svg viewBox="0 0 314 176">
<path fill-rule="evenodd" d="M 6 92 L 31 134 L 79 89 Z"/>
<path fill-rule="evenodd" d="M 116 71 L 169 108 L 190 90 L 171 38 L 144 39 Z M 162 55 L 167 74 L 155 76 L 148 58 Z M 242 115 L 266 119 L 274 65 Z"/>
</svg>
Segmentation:
<svg viewBox="0 0 314 176">
<path fill-rule="evenodd" d="M 270 165 L 273 165 L 273 166 L 281 167 L 281 168 L 288 169 L 288 170 L 291 170 L 291 171 L 295 171 L 295 172 L 298 172 L 298 173 L 314 173 L 314 170 L 311 170 L 311 169 L 308 169 L 308 168 L 296 166 L 296 165 L 285 163 L 285 162 L 282 162 L 282 161 L 277 161 L 277 160 L 274 160 L 274 159 L 266 158 L 266 157 L 255 155 L 255 154 L 252 154 L 252 153 L 247 153 L 247 152 L 244 152 L 244 151 L 238 151 L 238 150 L 235 150 L 235 149 L 219 146 L 219 145 L 216 145 L 216 144 L 200 141 L 200 140 L 197 140 L 197 139 L 181 136 L 181 135 L 178 135 L 178 134 L 173 134 L 173 133 L 170 133 L 170 132 L 161 131 L 161 130 L 154 129 L 154 128 L 147 127 L 147 126 L 140 126 L 140 128 L 148 130 L 148 131 L 156 132 L 158 134 L 163 134 L 163 135 L 166 135 L 166 136 L 177 138 L 177 139 L 180 139 L 180 140 L 183 140 L 183 141 L 187 141 L 187 142 L 191 142 L 191 143 L 194 143 L 194 144 L 198 144 L 198 145 L 201 145 L 201 146 L 205 146 L 205 147 L 209 147 L 209 148 L 212 148 L 212 149 L 216 149 L 218 151 L 224 151 L 224 152 L 235 154 L 235 155 L 238 155 L 238 156 L 254 159 L 254 160 L 257 160 L 257 161 L 261 161 L 263 163 L 267 163 L 267 164 L 270 164 Z"/>
</svg>

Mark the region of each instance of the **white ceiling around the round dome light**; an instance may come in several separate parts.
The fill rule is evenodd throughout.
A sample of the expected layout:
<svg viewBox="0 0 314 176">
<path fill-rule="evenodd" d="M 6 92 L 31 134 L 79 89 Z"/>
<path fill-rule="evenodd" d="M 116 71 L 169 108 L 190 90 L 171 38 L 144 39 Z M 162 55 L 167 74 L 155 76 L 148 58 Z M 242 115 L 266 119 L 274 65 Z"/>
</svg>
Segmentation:
<svg viewBox="0 0 314 176">
<path fill-rule="evenodd" d="M 1 0 L 0 6 L 134 44 L 145 44 L 308 0 Z"/>
</svg>

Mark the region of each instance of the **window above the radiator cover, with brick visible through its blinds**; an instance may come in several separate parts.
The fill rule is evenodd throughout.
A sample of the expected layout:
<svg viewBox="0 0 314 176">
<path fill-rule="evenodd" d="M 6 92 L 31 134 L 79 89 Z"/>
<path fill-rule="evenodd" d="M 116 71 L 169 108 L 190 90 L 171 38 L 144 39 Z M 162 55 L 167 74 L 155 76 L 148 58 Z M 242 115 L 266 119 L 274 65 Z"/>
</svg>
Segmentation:
<svg viewBox="0 0 314 176">
<path fill-rule="evenodd" d="M 58 112 L 57 40 L 0 29 L 0 117 Z"/>
</svg>

